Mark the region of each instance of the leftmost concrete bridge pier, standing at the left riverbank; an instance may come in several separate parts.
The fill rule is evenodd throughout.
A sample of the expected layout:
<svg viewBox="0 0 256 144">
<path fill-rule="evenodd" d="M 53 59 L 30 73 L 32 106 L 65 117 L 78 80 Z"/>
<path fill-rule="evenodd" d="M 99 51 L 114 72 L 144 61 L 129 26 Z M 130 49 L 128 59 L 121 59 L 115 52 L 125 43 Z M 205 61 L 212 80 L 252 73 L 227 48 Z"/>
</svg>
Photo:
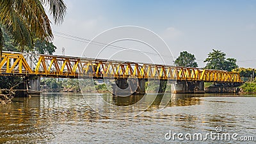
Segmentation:
<svg viewBox="0 0 256 144">
<path fill-rule="evenodd" d="M 31 97 L 40 96 L 40 76 L 28 76 L 25 77 L 24 90 L 25 95 L 29 95 Z"/>
</svg>

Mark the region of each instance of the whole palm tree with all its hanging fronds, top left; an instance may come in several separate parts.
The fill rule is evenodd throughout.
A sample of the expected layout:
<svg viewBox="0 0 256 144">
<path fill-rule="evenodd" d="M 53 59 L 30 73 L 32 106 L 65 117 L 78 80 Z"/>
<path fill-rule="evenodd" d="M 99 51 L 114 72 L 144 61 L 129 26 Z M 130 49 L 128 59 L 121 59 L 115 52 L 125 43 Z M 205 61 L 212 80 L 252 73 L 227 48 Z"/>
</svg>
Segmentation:
<svg viewBox="0 0 256 144">
<path fill-rule="evenodd" d="M 45 13 L 49 8 L 54 24 L 61 24 L 67 7 L 63 0 L 0 0 L 1 27 L 12 35 L 20 50 L 33 47 L 33 38 L 51 41 L 51 21 Z M 0 28 L 0 61 L 3 51 L 3 31 Z"/>
</svg>

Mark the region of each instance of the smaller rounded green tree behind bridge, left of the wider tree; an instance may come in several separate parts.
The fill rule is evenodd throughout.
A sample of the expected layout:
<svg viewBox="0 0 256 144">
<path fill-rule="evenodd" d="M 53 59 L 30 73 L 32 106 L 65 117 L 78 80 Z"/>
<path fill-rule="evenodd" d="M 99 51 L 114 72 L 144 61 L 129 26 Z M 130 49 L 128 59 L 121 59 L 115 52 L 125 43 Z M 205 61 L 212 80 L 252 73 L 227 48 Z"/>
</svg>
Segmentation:
<svg viewBox="0 0 256 144">
<path fill-rule="evenodd" d="M 180 56 L 174 61 L 178 67 L 198 67 L 194 54 L 187 51 L 180 52 Z"/>
</svg>

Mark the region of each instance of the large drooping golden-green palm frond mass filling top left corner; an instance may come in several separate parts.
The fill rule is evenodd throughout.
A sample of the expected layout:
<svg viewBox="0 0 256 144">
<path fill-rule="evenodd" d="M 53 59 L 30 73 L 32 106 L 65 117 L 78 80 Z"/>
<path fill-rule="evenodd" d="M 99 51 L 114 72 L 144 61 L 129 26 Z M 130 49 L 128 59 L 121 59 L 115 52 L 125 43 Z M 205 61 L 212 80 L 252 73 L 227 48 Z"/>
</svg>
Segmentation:
<svg viewBox="0 0 256 144">
<path fill-rule="evenodd" d="M 29 31 L 30 35 L 42 40 L 52 39 L 50 21 L 39 0 L 1 1 L 0 6 L 1 22 L 8 31 L 11 30 L 10 33 L 19 31 L 21 35 L 24 35 Z M 23 37 L 28 37 L 28 35 Z"/>
</svg>

